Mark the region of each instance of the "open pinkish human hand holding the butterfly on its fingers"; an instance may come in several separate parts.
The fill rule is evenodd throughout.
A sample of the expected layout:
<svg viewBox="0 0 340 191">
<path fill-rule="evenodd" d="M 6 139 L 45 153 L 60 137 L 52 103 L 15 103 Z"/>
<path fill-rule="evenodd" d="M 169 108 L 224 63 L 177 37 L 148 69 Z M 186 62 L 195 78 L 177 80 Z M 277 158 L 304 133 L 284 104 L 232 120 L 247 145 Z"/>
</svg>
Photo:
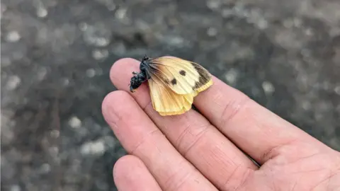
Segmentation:
<svg viewBox="0 0 340 191">
<path fill-rule="evenodd" d="M 195 98 L 201 113 L 160 116 L 147 83 L 130 93 L 139 64 L 113 64 L 118 91 L 102 105 L 128 151 L 113 167 L 118 190 L 340 190 L 338 151 L 215 77 Z"/>
</svg>

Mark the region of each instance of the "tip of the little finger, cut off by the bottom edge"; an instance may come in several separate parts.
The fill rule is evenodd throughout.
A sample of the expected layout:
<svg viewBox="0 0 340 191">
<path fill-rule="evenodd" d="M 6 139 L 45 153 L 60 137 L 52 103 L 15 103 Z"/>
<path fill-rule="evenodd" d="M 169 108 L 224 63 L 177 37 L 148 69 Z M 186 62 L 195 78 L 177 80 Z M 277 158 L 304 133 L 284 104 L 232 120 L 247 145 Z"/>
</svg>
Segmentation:
<svg viewBox="0 0 340 191">
<path fill-rule="evenodd" d="M 132 155 L 118 159 L 113 167 L 113 179 L 118 190 L 162 191 L 145 164 Z"/>
</svg>

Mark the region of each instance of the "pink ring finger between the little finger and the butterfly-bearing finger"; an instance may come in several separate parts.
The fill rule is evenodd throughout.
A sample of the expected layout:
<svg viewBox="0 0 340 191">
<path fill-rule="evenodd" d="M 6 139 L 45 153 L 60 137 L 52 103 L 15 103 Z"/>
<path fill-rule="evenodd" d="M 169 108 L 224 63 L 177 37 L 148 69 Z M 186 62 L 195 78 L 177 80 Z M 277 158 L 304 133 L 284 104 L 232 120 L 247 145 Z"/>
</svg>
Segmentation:
<svg viewBox="0 0 340 191">
<path fill-rule="evenodd" d="M 186 161 L 124 91 L 103 100 L 103 116 L 128 153 L 140 158 L 162 190 L 216 190 Z"/>
</svg>

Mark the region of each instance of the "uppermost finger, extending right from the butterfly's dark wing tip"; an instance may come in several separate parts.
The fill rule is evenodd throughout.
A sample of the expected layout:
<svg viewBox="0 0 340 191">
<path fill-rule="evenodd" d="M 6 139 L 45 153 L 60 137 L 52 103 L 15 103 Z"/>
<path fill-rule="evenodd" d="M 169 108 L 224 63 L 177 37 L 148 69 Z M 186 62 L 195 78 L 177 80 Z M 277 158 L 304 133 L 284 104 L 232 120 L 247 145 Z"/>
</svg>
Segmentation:
<svg viewBox="0 0 340 191">
<path fill-rule="evenodd" d="M 284 146 L 300 141 L 321 146 L 321 142 L 244 93 L 215 77 L 213 80 L 214 85 L 196 97 L 196 108 L 255 161 L 263 164 L 279 154 L 289 154 Z"/>
</svg>

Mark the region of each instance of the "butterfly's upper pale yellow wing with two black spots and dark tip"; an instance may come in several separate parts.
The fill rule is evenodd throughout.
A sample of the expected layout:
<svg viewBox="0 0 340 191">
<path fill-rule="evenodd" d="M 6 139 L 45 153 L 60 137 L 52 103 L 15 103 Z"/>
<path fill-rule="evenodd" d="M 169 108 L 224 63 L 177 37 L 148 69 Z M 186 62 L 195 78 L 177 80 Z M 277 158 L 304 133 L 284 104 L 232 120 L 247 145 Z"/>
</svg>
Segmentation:
<svg viewBox="0 0 340 191">
<path fill-rule="evenodd" d="M 208 70 L 195 62 L 177 57 L 159 57 L 149 62 L 151 76 L 162 79 L 177 94 L 196 96 L 212 85 Z"/>
</svg>

